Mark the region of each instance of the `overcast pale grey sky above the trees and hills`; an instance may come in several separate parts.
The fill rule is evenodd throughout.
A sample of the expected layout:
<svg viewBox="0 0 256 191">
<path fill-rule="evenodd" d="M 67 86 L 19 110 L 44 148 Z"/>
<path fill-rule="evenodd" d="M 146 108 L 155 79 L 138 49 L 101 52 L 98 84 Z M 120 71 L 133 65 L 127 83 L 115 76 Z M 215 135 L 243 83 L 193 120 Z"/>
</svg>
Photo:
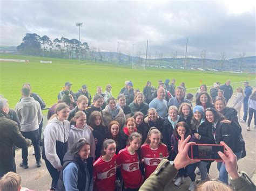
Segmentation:
<svg viewBox="0 0 256 191">
<path fill-rule="evenodd" d="M 201 56 L 228 59 L 255 53 L 254 1 L 3 1 L 0 45 L 18 46 L 26 33 L 51 40 L 78 39 L 103 51 L 152 56 Z M 134 44 L 134 48 L 133 48 Z"/>
</svg>

